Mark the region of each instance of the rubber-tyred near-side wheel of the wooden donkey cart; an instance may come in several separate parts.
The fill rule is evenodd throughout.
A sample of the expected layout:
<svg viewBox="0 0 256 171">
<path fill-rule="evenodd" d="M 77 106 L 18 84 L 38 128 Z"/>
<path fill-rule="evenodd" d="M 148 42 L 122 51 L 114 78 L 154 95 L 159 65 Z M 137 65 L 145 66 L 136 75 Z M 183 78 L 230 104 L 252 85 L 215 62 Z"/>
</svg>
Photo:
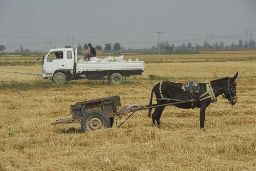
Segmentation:
<svg viewBox="0 0 256 171">
<path fill-rule="evenodd" d="M 82 132 L 93 131 L 96 129 L 101 129 L 103 127 L 110 128 L 110 120 L 103 111 L 88 111 L 81 119 Z"/>
</svg>

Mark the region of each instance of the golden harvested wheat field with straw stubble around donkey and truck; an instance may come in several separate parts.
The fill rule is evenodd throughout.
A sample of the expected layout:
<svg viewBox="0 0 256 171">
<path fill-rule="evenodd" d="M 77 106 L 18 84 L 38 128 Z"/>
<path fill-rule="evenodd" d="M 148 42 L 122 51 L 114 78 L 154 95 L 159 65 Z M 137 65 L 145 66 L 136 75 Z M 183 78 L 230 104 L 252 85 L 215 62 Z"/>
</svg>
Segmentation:
<svg viewBox="0 0 256 171">
<path fill-rule="evenodd" d="M 237 60 L 223 59 L 233 55 Z M 188 56 L 191 62 L 184 58 L 145 64 L 142 76 L 129 77 L 121 85 L 106 80 L 54 85 L 40 78 L 40 64 L 1 66 L 1 169 L 255 170 L 256 52 L 197 54 Z M 174 60 L 164 55 L 161 59 Z M 232 106 L 218 97 L 206 109 L 205 131 L 199 129 L 199 109 L 176 107 L 165 108 L 161 129 L 152 127 L 147 111 L 136 112 L 120 128 L 126 116 L 110 129 L 86 133 L 79 123 L 51 125 L 69 117 L 70 105 L 78 101 L 120 95 L 122 106 L 146 105 L 152 87 L 162 79 L 205 82 L 237 71 L 237 103 Z"/>
</svg>

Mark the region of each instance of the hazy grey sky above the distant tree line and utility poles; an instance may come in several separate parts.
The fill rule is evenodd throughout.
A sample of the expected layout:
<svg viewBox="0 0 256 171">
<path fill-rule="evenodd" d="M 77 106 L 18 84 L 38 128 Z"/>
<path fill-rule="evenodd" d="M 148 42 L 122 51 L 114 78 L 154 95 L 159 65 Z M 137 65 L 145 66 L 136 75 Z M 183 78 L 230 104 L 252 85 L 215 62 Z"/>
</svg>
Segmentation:
<svg viewBox="0 0 256 171">
<path fill-rule="evenodd" d="M 150 48 L 160 41 L 181 45 L 255 40 L 256 1 L 0 1 L 1 43 L 6 52 L 49 50 L 120 42 Z M 134 35 L 135 34 L 135 35 Z M 122 36 L 129 35 L 129 36 Z M 229 37 L 223 37 L 229 36 Z M 47 38 L 47 47 L 46 39 Z"/>
</svg>

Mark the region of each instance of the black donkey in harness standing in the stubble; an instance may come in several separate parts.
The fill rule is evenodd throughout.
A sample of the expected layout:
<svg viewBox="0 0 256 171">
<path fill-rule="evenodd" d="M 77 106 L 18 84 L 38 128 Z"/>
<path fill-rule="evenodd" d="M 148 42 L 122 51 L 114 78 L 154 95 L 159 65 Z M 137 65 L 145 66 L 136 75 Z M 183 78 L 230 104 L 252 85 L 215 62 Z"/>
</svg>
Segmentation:
<svg viewBox="0 0 256 171">
<path fill-rule="evenodd" d="M 210 81 L 210 86 L 212 86 L 212 95 L 215 97 L 218 97 L 219 95 L 222 95 L 224 98 L 228 99 L 230 101 L 231 105 L 236 104 L 237 96 L 236 96 L 236 78 L 238 76 L 238 72 L 236 75 L 232 78 L 226 77 L 221 78 L 218 80 Z M 209 84 L 208 84 L 209 85 Z M 156 84 L 152 91 L 150 96 L 150 103 L 148 106 L 152 106 L 152 96 L 153 92 L 156 95 L 157 105 L 165 104 L 165 103 L 173 103 L 177 101 L 184 101 L 189 99 L 196 99 L 193 103 L 182 103 L 178 105 L 174 105 L 179 108 L 183 109 L 194 109 L 194 107 L 200 108 L 200 129 L 204 130 L 204 120 L 205 120 L 205 110 L 206 107 L 210 105 L 212 101 L 212 98 L 208 98 L 208 94 L 206 91 L 206 84 L 199 83 L 198 88 L 199 91 L 197 93 L 192 93 L 184 91 L 182 89 L 183 84 L 176 83 L 176 82 L 160 82 Z M 160 89 L 161 88 L 161 89 Z M 208 96 L 208 97 L 207 97 Z M 217 101 L 217 99 L 215 100 Z M 164 110 L 164 107 L 156 107 L 154 112 L 152 113 L 152 122 L 153 126 L 157 126 L 160 128 L 160 117 Z M 148 111 L 148 117 L 151 115 L 152 109 L 149 109 Z"/>
</svg>

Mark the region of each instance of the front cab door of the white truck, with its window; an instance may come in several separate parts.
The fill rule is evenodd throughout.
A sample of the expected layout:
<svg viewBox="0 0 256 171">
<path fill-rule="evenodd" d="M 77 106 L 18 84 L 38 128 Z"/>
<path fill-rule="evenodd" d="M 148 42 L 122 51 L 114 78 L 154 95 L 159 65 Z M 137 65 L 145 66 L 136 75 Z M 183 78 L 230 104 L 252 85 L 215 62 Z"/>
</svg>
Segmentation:
<svg viewBox="0 0 256 171">
<path fill-rule="evenodd" d="M 48 74 L 54 73 L 56 70 L 65 69 L 65 60 L 63 51 L 50 52 L 46 59 L 46 70 Z"/>
</svg>

